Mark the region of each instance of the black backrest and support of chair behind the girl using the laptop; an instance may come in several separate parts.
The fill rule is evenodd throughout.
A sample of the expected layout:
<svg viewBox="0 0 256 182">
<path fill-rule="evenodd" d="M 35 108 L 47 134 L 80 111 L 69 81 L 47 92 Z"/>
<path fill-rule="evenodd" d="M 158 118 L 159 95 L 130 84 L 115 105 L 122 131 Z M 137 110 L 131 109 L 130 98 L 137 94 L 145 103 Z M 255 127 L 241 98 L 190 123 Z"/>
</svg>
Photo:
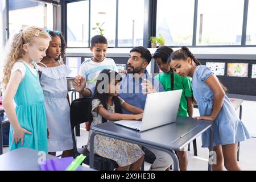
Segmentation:
<svg viewBox="0 0 256 182">
<path fill-rule="evenodd" d="M 74 129 L 77 125 L 84 123 L 88 119 L 89 114 L 89 105 L 91 100 L 88 98 L 78 98 L 71 103 L 70 107 L 70 126 L 71 126 L 71 134 L 73 139 L 73 150 L 74 154 L 77 154 L 76 147 L 76 137 L 74 133 Z"/>
</svg>

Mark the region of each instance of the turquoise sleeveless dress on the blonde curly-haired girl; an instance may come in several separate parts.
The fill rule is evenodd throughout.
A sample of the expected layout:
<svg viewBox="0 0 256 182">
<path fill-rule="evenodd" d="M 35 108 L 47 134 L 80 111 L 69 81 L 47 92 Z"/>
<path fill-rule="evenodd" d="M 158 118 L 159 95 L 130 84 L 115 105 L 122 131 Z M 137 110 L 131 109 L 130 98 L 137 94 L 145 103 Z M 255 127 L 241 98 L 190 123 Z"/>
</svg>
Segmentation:
<svg viewBox="0 0 256 182">
<path fill-rule="evenodd" d="M 9 148 L 15 150 L 20 147 L 33 148 L 47 152 L 47 126 L 44 110 L 44 94 L 39 82 L 39 74 L 33 75 L 26 63 L 26 75 L 20 82 L 15 94 L 16 115 L 19 125 L 32 134 L 24 134 L 24 143 L 13 143 L 13 127 L 10 126 Z M 33 63 L 35 68 L 36 65 Z"/>
</svg>

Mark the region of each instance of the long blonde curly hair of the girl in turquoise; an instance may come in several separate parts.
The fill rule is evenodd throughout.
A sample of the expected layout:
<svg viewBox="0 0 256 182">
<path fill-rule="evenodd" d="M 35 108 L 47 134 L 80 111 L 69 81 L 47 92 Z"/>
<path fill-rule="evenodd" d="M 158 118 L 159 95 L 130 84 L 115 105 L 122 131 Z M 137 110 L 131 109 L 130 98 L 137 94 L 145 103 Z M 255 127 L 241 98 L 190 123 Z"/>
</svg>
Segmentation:
<svg viewBox="0 0 256 182">
<path fill-rule="evenodd" d="M 6 56 L 3 64 L 2 89 L 5 89 L 11 76 L 11 69 L 14 63 L 25 55 L 23 44 L 31 45 L 37 38 L 51 40 L 51 36 L 43 29 L 35 26 L 23 28 L 18 33 L 14 34 L 6 45 Z"/>
</svg>

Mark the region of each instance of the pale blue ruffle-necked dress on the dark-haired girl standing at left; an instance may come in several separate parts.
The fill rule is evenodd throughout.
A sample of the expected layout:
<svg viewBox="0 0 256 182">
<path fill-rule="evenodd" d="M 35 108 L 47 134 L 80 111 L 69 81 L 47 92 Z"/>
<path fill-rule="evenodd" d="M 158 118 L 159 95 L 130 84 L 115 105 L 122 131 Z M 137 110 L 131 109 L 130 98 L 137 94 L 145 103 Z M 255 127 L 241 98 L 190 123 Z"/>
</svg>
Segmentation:
<svg viewBox="0 0 256 182">
<path fill-rule="evenodd" d="M 41 63 L 42 64 L 42 63 Z M 59 63 L 60 64 L 60 63 Z M 46 65 L 44 65 L 46 67 Z M 67 76 L 71 69 L 67 65 L 45 68 L 38 65 L 42 72 L 40 84 L 46 106 L 48 151 L 65 151 L 73 148 L 69 123 L 69 103 L 67 100 Z"/>
</svg>

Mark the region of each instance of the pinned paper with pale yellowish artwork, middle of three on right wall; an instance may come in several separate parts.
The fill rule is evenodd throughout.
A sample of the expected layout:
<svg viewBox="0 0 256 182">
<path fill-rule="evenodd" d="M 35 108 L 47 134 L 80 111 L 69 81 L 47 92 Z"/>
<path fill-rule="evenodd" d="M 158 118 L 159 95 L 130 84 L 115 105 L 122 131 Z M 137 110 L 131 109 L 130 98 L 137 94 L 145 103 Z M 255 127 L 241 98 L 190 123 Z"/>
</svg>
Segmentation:
<svg viewBox="0 0 256 182">
<path fill-rule="evenodd" d="M 228 76 L 248 77 L 248 63 L 228 63 Z"/>
</svg>

